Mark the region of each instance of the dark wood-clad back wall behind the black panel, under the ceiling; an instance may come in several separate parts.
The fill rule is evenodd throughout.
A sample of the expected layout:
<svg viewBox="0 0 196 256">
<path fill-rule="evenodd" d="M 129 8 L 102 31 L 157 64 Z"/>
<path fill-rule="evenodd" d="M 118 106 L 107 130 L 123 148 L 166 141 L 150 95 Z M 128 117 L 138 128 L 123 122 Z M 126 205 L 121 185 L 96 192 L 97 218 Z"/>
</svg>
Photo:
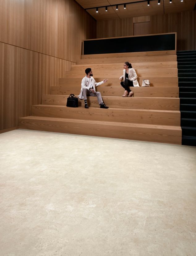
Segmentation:
<svg viewBox="0 0 196 256">
<path fill-rule="evenodd" d="M 133 23 L 139 18 L 98 20 L 97 38 L 133 36 Z M 150 34 L 171 32 L 177 32 L 177 50 L 195 50 L 196 11 L 150 16 Z"/>
</svg>

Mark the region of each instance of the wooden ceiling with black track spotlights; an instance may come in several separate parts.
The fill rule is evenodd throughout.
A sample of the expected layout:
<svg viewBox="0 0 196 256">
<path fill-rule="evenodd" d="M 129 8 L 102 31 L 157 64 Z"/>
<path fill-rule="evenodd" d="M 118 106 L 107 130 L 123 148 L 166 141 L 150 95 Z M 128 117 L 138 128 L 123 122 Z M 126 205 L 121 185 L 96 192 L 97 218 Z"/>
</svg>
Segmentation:
<svg viewBox="0 0 196 256">
<path fill-rule="evenodd" d="M 141 2 L 141 0 L 76 0 L 95 20 L 110 20 L 110 19 L 122 19 L 128 17 L 138 17 L 147 15 L 157 15 L 157 14 L 167 14 L 172 12 L 181 11 L 193 11 L 195 7 L 196 0 L 160 0 L 160 5 L 158 5 L 158 0 L 150 0 L 150 6 L 147 6 L 146 2 Z M 122 3 L 126 4 L 126 9 L 124 9 Z M 116 10 L 117 5 L 118 10 Z M 105 11 L 105 7 L 108 7 L 108 11 Z M 96 13 L 96 7 L 98 13 Z M 88 9 L 93 8 L 93 9 Z"/>
</svg>

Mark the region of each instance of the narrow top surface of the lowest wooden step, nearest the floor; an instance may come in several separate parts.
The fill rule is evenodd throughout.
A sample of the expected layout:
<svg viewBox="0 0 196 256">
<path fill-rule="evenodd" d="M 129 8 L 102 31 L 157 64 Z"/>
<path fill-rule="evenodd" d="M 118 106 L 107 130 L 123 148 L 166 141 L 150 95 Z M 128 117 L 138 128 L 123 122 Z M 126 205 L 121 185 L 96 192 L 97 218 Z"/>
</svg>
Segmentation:
<svg viewBox="0 0 196 256">
<path fill-rule="evenodd" d="M 154 128 L 154 129 L 165 129 L 165 130 L 176 130 L 181 131 L 181 126 L 173 125 L 157 125 L 157 124 L 138 124 L 138 123 L 121 123 L 121 122 L 106 122 L 106 121 L 91 121 L 83 119 L 70 119 L 70 118 L 58 118 L 58 117 L 42 117 L 42 116 L 26 116 L 20 117 L 19 120 L 31 119 L 31 120 L 45 120 L 45 121 L 58 121 L 58 122 L 72 122 L 72 123 L 81 123 L 86 124 L 97 124 L 97 125 L 115 125 L 120 127 L 140 127 L 140 128 Z"/>
</svg>

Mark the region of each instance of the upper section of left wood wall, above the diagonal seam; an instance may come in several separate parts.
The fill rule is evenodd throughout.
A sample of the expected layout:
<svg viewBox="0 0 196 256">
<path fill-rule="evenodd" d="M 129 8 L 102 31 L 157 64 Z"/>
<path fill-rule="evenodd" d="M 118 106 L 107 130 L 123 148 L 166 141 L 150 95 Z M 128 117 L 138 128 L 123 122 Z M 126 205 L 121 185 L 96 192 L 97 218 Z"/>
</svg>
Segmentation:
<svg viewBox="0 0 196 256">
<path fill-rule="evenodd" d="M 0 41 L 76 62 L 94 20 L 74 0 L 1 0 Z"/>
</svg>

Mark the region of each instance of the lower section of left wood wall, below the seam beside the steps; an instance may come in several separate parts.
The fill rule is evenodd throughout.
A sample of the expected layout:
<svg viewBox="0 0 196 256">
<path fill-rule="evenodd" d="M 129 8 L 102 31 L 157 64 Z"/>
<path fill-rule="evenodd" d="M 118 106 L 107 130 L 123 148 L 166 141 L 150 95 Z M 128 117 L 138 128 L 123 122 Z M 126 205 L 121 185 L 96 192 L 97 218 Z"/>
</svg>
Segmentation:
<svg viewBox="0 0 196 256">
<path fill-rule="evenodd" d="M 30 115 L 31 105 L 40 104 L 70 68 L 70 61 L 0 43 L 0 129 Z"/>
</svg>

